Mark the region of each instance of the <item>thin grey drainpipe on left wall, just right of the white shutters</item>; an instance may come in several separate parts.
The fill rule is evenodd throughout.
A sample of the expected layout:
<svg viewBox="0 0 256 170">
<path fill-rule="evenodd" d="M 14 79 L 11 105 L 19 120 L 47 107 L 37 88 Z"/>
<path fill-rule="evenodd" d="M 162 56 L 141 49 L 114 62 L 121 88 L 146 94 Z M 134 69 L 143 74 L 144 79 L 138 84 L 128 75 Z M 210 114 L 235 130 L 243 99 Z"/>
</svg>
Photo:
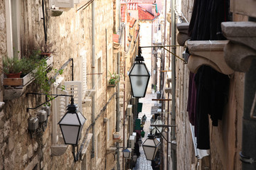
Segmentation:
<svg viewBox="0 0 256 170">
<path fill-rule="evenodd" d="M 95 89 L 95 1 L 92 1 L 92 89 Z M 95 157 L 95 94 L 92 95 L 92 154 Z M 91 164 L 92 166 L 92 164 Z M 92 167 L 91 167 L 92 169 Z"/>
</svg>

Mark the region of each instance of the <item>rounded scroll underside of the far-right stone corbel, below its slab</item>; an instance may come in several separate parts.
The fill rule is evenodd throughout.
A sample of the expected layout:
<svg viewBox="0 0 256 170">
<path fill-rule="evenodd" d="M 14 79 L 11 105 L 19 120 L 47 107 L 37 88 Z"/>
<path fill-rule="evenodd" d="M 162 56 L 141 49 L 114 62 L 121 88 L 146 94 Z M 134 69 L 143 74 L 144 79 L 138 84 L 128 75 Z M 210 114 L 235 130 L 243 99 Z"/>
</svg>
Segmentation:
<svg viewBox="0 0 256 170">
<path fill-rule="evenodd" d="M 256 50 L 233 42 L 229 42 L 224 50 L 225 62 L 237 72 L 247 72 L 252 59 L 256 57 Z"/>
</svg>

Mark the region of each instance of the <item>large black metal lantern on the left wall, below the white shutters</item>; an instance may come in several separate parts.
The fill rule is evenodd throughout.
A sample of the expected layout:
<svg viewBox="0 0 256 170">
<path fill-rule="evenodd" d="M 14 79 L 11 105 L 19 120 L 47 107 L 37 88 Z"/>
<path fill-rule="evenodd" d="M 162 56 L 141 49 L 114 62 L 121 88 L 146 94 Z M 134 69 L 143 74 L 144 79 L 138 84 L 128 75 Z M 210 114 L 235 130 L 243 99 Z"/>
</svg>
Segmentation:
<svg viewBox="0 0 256 170">
<path fill-rule="evenodd" d="M 67 107 L 67 112 L 58 123 L 65 145 L 78 145 L 85 120 L 85 117 L 78 111 L 78 107 L 74 104 L 74 99 L 71 98 L 71 103 Z"/>
</svg>

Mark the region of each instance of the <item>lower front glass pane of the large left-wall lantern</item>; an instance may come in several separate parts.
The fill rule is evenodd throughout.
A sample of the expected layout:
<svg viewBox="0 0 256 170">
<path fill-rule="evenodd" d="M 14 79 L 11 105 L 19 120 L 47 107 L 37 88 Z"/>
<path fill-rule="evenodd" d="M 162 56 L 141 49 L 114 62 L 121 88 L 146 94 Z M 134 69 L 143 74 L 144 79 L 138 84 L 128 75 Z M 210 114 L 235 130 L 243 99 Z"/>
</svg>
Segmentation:
<svg viewBox="0 0 256 170">
<path fill-rule="evenodd" d="M 79 126 L 60 125 L 65 144 L 76 145 L 78 141 Z"/>
</svg>

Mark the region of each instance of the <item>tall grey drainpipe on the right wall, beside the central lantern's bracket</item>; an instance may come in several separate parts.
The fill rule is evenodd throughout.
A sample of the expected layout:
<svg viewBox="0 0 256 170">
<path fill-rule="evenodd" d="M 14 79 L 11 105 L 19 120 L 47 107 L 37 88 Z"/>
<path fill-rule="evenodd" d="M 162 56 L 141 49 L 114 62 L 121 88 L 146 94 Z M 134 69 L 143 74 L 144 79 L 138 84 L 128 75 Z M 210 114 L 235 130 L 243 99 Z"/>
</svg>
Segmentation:
<svg viewBox="0 0 256 170">
<path fill-rule="evenodd" d="M 171 1 L 171 45 L 176 45 L 176 15 L 175 1 Z M 171 52 L 176 54 L 176 47 L 171 47 Z M 171 125 L 176 125 L 176 66 L 175 56 L 171 55 Z M 176 128 L 171 127 L 171 142 L 176 142 Z M 171 145 L 172 169 L 177 169 L 176 146 Z"/>
</svg>

